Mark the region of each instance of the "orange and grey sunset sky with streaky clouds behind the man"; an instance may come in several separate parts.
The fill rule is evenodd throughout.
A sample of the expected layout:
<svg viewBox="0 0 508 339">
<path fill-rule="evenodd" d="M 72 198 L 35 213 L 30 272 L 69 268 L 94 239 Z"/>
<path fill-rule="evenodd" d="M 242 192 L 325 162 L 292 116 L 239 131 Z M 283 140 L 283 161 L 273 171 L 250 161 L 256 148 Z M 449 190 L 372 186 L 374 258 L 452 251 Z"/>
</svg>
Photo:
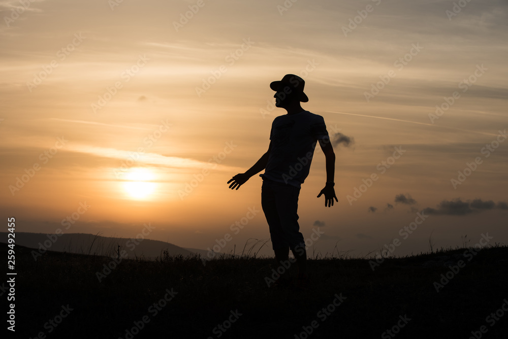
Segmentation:
<svg viewBox="0 0 508 339">
<path fill-rule="evenodd" d="M 149 224 L 148 239 L 272 255 L 261 178 L 227 182 L 286 114 L 270 82 L 296 74 L 336 154 L 338 202 L 316 198 L 319 147 L 300 192 L 309 256 L 506 244 L 507 9 L 2 1 L 0 211 L 18 232 L 128 238 Z"/>
</svg>

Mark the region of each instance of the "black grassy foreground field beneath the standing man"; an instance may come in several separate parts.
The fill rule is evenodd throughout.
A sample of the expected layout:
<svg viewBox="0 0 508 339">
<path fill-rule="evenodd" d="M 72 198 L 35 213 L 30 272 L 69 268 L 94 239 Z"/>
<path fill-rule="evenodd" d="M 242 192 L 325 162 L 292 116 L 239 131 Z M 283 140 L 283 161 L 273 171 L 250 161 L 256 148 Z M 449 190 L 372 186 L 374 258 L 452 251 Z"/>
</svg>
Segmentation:
<svg viewBox="0 0 508 339">
<path fill-rule="evenodd" d="M 304 291 L 267 287 L 274 259 L 123 260 L 99 282 L 111 258 L 35 261 L 30 251 L 16 247 L 16 335 L 7 337 L 508 337 L 506 247 L 387 259 L 375 270 L 366 259 L 309 260 Z"/>
</svg>

